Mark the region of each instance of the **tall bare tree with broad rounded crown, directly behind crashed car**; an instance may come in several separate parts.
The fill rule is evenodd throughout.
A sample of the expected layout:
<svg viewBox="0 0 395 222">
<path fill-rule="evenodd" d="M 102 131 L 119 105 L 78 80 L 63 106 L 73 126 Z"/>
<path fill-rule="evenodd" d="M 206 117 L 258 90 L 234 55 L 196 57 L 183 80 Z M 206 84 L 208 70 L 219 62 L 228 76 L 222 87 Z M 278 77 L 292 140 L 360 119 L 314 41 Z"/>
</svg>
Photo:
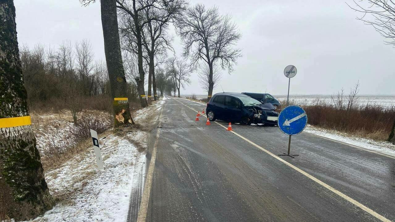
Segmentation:
<svg viewBox="0 0 395 222">
<path fill-rule="evenodd" d="M 233 65 L 241 55 L 241 49 L 235 48 L 241 34 L 229 15 L 220 15 L 218 8 L 206 9 L 197 4 L 186 10 L 176 23 L 184 45 L 184 56 L 190 56 L 194 68 L 202 60 L 209 66 L 208 99 L 213 94 L 214 64 L 218 62 L 222 69 L 233 71 Z"/>
</svg>

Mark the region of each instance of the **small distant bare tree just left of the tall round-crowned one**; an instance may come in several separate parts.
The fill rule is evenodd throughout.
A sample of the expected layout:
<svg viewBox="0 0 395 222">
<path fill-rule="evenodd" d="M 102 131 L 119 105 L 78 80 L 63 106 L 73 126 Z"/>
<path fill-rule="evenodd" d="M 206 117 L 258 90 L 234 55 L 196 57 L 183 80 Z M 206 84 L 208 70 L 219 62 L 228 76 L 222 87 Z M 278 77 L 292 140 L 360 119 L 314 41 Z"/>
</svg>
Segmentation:
<svg viewBox="0 0 395 222">
<path fill-rule="evenodd" d="M 185 86 L 191 83 L 189 79 L 192 73 L 190 64 L 188 64 L 186 60 L 173 57 L 167 61 L 166 70 L 167 73 L 172 76 L 175 88 L 177 88 L 178 91 L 178 97 L 180 97 L 180 88 L 182 87 L 185 89 Z"/>
</svg>

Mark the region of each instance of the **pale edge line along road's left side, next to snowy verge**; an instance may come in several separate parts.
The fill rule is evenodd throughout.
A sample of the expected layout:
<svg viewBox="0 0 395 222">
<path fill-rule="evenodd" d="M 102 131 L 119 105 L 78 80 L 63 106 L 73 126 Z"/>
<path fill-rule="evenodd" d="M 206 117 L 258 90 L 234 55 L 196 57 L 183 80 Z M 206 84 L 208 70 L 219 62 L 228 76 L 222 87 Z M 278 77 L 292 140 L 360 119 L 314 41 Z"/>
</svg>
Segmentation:
<svg viewBox="0 0 395 222">
<path fill-rule="evenodd" d="M 162 109 L 163 111 L 163 109 Z M 160 126 L 160 117 L 162 116 L 162 111 L 159 114 L 159 123 Z M 149 196 L 151 192 L 152 186 L 152 176 L 154 175 L 154 167 L 155 167 L 155 159 L 156 159 L 156 147 L 158 146 L 159 141 L 159 134 L 160 134 L 160 127 L 158 127 L 155 137 L 154 148 L 152 149 L 151 160 L 149 162 L 149 168 L 147 171 L 147 178 L 145 179 L 145 186 L 143 191 L 143 196 L 141 198 L 139 213 L 137 214 L 137 222 L 145 222 L 147 219 L 147 210 L 148 210 L 148 203 L 149 203 Z"/>
</svg>

